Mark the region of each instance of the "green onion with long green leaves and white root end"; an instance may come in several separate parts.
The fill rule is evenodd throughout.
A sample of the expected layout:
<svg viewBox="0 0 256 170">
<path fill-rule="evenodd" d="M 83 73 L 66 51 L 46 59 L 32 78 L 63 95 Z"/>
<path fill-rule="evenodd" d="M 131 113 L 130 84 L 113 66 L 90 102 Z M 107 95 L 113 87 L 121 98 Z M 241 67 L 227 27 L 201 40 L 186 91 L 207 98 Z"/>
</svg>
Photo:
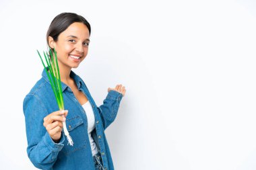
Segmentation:
<svg viewBox="0 0 256 170">
<path fill-rule="evenodd" d="M 49 50 L 49 52 L 44 52 L 44 58 L 46 61 L 46 65 L 49 69 L 49 72 L 47 71 L 46 65 L 44 64 L 44 61 L 42 60 L 42 56 L 40 55 L 40 52 L 38 52 L 38 55 L 40 56 L 40 59 L 42 61 L 42 65 L 44 66 L 44 70 L 46 71 L 47 77 L 51 83 L 51 87 L 53 89 L 53 93 L 55 94 L 56 101 L 59 106 L 59 110 L 64 110 L 64 101 L 63 101 L 63 93 L 62 93 L 62 87 L 61 87 L 61 76 L 59 74 L 59 65 L 57 61 L 57 52 L 55 48 L 53 49 L 54 54 L 52 50 Z M 73 140 L 71 136 L 69 135 L 69 131 L 67 131 L 66 122 L 63 122 L 63 130 L 65 136 L 67 136 L 68 144 L 73 146 Z"/>
</svg>

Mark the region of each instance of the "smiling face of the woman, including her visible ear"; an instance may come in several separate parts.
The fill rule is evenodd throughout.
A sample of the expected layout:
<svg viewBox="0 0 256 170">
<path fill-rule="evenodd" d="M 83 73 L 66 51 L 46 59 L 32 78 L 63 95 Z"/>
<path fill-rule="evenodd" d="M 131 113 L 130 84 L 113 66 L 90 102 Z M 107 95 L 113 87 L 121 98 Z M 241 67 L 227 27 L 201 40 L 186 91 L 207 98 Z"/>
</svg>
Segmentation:
<svg viewBox="0 0 256 170">
<path fill-rule="evenodd" d="M 63 69 L 77 68 L 88 54 L 89 43 L 89 30 L 81 22 L 74 22 L 61 32 L 57 42 L 49 36 L 49 45 L 55 48 L 59 67 Z"/>
</svg>

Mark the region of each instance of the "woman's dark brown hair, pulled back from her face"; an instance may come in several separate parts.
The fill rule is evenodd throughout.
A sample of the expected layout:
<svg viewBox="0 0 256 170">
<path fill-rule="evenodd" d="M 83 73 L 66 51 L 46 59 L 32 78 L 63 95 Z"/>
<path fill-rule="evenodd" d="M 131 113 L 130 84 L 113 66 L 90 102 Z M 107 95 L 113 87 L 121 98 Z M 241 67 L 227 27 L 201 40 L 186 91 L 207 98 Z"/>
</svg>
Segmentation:
<svg viewBox="0 0 256 170">
<path fill-rule="evenodd" d="M 89 34 L 91 34 L 91 26 L 84 17 L 82 17 L 81 15 L 77 15 L 76 13 L 64 12 L 57 15 L 51 22 L 51 25 L 49 26 L 46 34 L 47 45 L 49 46 L 49 36 L 53 37 L 53 40 L 56 42 L 58 40 L 59 34 L 65 31 L 74 22 L 84 23 L 84 25 L 86 25 L 89 30 Z"/>
</svg>

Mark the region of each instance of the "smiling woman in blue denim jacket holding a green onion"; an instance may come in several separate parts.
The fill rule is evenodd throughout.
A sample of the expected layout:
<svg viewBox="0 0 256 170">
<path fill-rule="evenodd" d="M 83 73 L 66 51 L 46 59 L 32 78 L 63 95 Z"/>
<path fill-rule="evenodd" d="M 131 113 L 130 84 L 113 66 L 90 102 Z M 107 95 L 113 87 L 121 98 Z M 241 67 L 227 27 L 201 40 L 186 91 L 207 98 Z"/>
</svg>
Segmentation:
<svg viewBox="0 0 256 170">
<path fill-rule="evenodd" d="M 61 13 L 46 34 L 49 48 L 55 48 L 65 111 L 60 112 L 51 84 L 42 78 L 24 99 L 28 157 L 39 169 L 114 169 L 104 130 L 115 120 L 125 87 L 108 88 L 97 107 L 77 68 L 88 54 L 90 24 L 75 13 Z M 73 140 L 68 144 L 63 121 Z"/>
</svg>

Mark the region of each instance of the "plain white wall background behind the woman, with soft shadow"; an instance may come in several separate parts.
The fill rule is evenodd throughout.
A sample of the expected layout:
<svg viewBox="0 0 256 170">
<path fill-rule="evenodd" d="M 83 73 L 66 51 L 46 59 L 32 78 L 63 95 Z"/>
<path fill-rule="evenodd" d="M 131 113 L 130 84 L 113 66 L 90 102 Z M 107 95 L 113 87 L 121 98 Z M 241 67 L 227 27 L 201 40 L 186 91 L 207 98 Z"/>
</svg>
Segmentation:
<svg viewBox="0 0 256 170">
<path fill-rule="evenodd" d="M 42 73 L 36 49 L 64 11 L 92 26 L 73 71 L 96 103 L 108 87 L 127 89 L 106 130 L 116 169 L 256 169 L 255 9 L 248 0 L 1 0 L 0 169 L 36 169 L 22 102 Z"/>
</svg>

